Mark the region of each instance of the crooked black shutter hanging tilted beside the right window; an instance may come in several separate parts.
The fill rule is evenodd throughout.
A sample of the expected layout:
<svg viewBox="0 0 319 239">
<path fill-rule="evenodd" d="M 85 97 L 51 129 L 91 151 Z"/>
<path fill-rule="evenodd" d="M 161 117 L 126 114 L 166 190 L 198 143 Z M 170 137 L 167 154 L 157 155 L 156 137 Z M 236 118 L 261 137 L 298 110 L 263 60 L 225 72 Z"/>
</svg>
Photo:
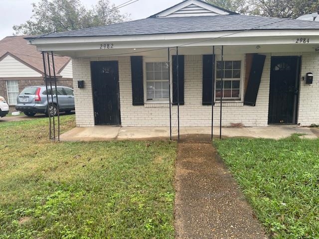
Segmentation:
<svg viewBox="0 0 319 239">
<path fill-rule="evenodd" d="M 249 74 L 247 90 L 244 100 L 244 105 L 246 106 L 256 106 L 256 100 L 259 90 L 259 85 L 261 81 L 261 76 L 263 74 L 265 55 L 254 55 L 252 66 Z"/>
</svg>

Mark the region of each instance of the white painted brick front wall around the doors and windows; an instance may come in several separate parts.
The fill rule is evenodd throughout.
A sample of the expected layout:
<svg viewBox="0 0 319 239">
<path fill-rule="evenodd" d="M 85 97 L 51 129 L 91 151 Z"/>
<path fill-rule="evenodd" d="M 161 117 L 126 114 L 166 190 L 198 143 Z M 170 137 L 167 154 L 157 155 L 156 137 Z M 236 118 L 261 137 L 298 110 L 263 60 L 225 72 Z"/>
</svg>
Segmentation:
<svg viewBox="0 0 319 239">
<path fill-rule="evenodd" d="M 222 124 L 242 123 L 245 126 L 267 126 L 270 84 L 271 54 L 265 54 L 266 61 L 255 107 L 242 103 L 223 104 Z M 280 55 L 280 54 L 276 54 Z M 284 53 L 282 54 L 284 55 Z M 301 55 L 301 53 L 289 53 Z M 168 104 L 146 106 L 132 105 L 132 83 L 130 57 L 74 58 L 73 79 L 75 89 L 75 108 L 77 126 L 94 126 L 93 100 L 91 90 L 90 61 L 119 61 L 120 104 L 122 126 L 168 126 Z M 244 70 L 244 69 L 243 69 Z M 305 53 L 302 76 L 306 72 L 315 75 L 311 86 L 301 83 L 299 122 L 302 125 L 319 123 L 319 56 L 317 53 Z M 85 88 L 78 89 L 77 81 L 84 80 Z M 209 126 L 211 124 L 211 106 L 202 106 L 202 56 L 185 56 L 185 105 L 180 106 L 181 126 Z M 220 107 L 214 107 L 214 124 L 219 125 Z M 172 107 L 172 125 L 176 126 L 177 107 Z"/>
</svg>

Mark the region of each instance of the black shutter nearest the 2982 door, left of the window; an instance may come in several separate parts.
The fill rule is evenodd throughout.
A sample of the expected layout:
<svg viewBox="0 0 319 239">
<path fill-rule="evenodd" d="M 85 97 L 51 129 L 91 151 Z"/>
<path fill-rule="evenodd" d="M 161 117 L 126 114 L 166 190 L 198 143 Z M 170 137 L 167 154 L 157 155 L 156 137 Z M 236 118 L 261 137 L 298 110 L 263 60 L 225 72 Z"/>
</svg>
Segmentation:
<svg viewBox="0 0 319 239">
<path fill-rule="evenodd" d="M 131 56 L 133 106 L 144 106 L 143 56 Z"/>
</svg>

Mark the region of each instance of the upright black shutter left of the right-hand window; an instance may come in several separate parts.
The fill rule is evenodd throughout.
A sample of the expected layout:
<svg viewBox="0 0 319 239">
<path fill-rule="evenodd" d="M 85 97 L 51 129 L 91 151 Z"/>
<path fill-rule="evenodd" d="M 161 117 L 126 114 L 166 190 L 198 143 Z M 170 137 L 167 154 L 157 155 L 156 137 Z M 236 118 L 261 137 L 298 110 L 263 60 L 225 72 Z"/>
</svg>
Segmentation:
<svg viewBox="0 0 319 239">
<path fill-rule="evenodd" d="M 203 55 L 203 106 L 211 106 L 213 89 L 213 55 Z"/>
</svg>

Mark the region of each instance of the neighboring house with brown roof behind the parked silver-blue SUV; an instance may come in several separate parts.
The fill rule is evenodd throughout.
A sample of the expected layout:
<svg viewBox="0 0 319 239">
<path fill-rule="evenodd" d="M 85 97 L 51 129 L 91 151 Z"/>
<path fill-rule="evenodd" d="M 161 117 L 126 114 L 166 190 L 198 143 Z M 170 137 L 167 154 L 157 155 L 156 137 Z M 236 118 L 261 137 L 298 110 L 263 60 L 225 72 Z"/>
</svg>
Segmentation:
<svg viewBox="0 0 319 239">
<path fill-rule="evenodd" d="M 44 85 L 42 55 L 24 37 L 30 36 L 7 36 L 0 40 L 0 96 L 11 108 L 23 88 Z M 57 84 L 71 87 L 71 58 L 58 56 L 54 60 Z"/>
</svg>

